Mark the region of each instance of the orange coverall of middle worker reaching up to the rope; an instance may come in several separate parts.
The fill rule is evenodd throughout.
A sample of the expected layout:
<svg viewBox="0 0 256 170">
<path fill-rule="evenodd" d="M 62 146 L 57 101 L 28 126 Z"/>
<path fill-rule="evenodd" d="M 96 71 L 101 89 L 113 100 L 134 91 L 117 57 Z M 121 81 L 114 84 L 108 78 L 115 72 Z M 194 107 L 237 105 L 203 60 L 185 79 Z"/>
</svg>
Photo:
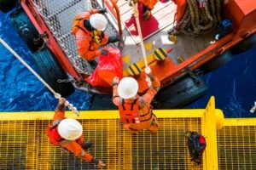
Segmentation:
<svg viewBox="0 0 256 170">
<path fill-rule="evenodd" d="M 113 104 L 122 105 L 122 99 L 119 97 L 117 92 L 117 85 L 113 85 Z M 151 87 L 148 88 L 146 94 L 142 96 L 137 95 L 137 104 L 139 105 L 139 114 L 141 116 L 141 121 L 139 123 L 125 123 L 124 127 L 131 134 L 138 133 L 143 129 L 148 129 L 151 133 L 156 133 L 159 129 L 159 124 L 157 122 L 157 117 L 152 112 L 151 101 L 154 95 L 158 92 L 160 88 L 160 81 L 157 77 L 152 80 Z M 125 103 L 133 103 L 135 99 L 125 99 Z M 149 117 L 149 118 L 148 118 Z"/>
</svg>

